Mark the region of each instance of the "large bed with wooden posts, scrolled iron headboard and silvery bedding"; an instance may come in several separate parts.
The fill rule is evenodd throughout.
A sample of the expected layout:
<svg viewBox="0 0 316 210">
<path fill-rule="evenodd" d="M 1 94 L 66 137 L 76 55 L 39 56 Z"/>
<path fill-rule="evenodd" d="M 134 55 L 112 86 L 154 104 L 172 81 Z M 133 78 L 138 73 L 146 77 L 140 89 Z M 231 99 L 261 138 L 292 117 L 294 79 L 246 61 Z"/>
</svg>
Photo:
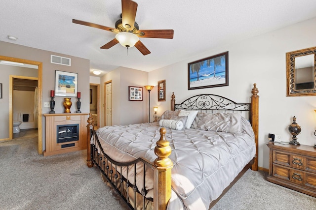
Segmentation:
<svg viewBox="0 0 316 210">
<path fill-rule="evenodd" d="M 210 209 L 246 170 L 258 170 L 256 84 L 251 92 L 250 103 L 200 94 L 176 104 L 172 94 L 159 122 L 95 131 L 90 116 L 87 166 L 131 209 Z"/>
</svg>

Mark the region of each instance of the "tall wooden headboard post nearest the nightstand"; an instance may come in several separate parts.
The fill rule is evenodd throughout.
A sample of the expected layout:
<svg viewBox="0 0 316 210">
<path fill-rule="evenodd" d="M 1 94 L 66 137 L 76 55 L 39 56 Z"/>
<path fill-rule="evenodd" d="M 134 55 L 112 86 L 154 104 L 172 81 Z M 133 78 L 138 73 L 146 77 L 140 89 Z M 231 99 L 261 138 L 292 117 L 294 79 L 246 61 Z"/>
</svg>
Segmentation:
<svg viewBox="0 0 316 210">
<path fill-rule="evenodd" d="M 251 90 L 251 107 L 250 107 L 250 122 L 252 129 L 255 133 L 256 142 L 256 157 L 255 162 L 252 164 L 251 169 L 258 171 L 258 133 L 259 133 L 259 90 L 257 89 L 257 84 L 253 84 L 253 89 Z"/>
</svg>

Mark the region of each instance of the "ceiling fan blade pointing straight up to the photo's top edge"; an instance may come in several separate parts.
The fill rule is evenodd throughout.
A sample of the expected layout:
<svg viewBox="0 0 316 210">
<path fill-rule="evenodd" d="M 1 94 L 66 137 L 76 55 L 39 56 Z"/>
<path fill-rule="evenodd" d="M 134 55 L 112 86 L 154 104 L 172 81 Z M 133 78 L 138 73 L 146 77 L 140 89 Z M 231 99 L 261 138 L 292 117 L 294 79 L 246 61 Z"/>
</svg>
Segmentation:
<svg viewBox="0 0 316 210">
<path fill-rule="evenodd" d="M 122 0 L 122 26 L 128 31 L 134 29 L 137 3 L 132 0 Z"/>
</svg>

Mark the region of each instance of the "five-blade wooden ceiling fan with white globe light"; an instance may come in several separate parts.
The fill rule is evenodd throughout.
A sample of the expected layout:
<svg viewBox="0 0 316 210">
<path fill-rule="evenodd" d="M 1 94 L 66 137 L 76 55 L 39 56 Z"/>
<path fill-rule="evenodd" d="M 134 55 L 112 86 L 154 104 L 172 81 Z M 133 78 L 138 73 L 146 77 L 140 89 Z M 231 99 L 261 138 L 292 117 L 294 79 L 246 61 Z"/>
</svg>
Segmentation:
<svg viewBox="0 0 316 210">
<path fill-rule="evenodd" d="M 135 46 L 145 56 L 150 54 L 150 51 L 139 40 L 139 37 L 172 39 L 173 30 L 139 30 L 138 24 L 135 22 L 136 11 L 137 3 L 135 1 L 122 0 L 122 14 L 121 18 L 115 23 L 115 29 L 76 19 L 73 19 L 73 23 L 117 33 L 115 38 L 100 47 L 101 49 L 110 49 L 120 43 L 127 49 Z"/>
</svg>

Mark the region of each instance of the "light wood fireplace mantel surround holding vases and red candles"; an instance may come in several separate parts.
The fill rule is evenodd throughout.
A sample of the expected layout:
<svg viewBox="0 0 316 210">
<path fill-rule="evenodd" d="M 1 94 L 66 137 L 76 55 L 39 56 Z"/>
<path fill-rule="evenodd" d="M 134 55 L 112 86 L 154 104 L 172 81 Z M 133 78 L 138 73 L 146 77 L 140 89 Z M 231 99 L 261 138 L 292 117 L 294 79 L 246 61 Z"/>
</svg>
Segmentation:
<svg viewBox="0 0 316 210">
<path fill-rule="evenodd" d="M 46 150 L 44 156 L 67 153 L 87 148 L 87 119 L 88 113 L 43 114 L 46 118 Z M 57 125 L 79 124 L 79 140 L 57 143 Z"/>
</svg>

